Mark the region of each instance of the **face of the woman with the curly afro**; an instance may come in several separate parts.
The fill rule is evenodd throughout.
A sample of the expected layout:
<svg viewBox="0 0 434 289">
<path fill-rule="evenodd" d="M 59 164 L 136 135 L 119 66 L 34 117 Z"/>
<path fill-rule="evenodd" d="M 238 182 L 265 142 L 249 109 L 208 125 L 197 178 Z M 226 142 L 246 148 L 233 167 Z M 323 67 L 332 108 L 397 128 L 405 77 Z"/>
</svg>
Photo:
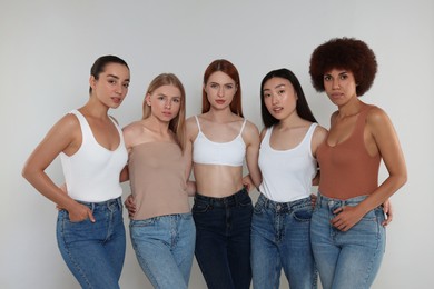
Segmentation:
<svg viewBox="0 0 434 289">
<path fill-rule="evenodd" d="M 356 81 L 352 71 L 332 69 L 324 74 L 324 89 L 331 101 L 341 107 L 356 98 Z"/>
</svg>

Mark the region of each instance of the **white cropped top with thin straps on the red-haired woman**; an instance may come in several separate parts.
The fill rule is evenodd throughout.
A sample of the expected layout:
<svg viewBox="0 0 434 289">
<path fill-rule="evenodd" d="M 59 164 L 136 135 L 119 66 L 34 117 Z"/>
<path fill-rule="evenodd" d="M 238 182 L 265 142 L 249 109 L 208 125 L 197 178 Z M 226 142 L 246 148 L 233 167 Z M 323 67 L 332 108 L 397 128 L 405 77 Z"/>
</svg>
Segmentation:
<svg viewBox="0 0 434 289">
<path fill-rule="evenodd" d="M 193 162 L 201 165 L 220 165 L 240 167 L 246 156 L 246 143 L 241 133 L 246 126 L 244 120 L 239 134 L 228 142 L 209 140 L 200 130 L 199 119 L 195 116 L 199 133 L 193 143 Z"/>
</svg>

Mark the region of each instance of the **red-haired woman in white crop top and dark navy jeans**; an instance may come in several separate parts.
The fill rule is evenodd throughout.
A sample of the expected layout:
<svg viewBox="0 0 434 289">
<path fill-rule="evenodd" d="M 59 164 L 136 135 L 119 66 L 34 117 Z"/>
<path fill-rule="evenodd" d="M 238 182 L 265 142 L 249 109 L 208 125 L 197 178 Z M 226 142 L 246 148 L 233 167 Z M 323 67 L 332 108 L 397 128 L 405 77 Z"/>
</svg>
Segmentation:
<svg viewBox="0 0 434 289">
<path fill-rule="evenodd" d="M 253 205 L 243 185 L 243 162 L 256 187 L 259 131 L 243 117 L 236 67 L 215 60 L 204 74 L 203 114 L 187 120 L 197 186 L 193 216 L 195 255 L 208 288 L 249 288 Z"/>
</svg>

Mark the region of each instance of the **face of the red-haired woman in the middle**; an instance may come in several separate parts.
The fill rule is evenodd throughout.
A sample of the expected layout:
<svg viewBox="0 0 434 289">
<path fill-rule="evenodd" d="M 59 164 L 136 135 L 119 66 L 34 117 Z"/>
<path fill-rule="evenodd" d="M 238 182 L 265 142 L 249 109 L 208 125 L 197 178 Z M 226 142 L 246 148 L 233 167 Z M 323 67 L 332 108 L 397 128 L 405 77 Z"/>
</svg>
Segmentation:
<svg viewBox="0 0 434 289">
<path fill-rule="evenodd" d="M 214 109 L 226 109 L 233 102 L 237 92 L 237 84 L 234 79 L 221 71 L 216 71 L 209 76 L 204 84 L 207 99 Z"/>
</svg>

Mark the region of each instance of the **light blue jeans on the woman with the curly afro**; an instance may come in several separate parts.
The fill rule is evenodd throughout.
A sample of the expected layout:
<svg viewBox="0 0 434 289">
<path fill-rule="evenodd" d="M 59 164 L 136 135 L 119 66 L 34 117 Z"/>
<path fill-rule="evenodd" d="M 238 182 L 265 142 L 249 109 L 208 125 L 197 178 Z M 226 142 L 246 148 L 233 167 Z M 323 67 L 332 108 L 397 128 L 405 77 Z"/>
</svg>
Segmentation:
<svg viewBox="0 0 434 289">
<path fill-rule="evenodd" d="M 366 196 L 347 200 L 318 193 L 312 217 L 310 239 L 324 289 L 365 289 L 373 283 L 383 259 L 386 230 L 381 207 L 367 212 L 348 231 L 331 225 L 343 206 L 357 206 Z"/>
</svg>

